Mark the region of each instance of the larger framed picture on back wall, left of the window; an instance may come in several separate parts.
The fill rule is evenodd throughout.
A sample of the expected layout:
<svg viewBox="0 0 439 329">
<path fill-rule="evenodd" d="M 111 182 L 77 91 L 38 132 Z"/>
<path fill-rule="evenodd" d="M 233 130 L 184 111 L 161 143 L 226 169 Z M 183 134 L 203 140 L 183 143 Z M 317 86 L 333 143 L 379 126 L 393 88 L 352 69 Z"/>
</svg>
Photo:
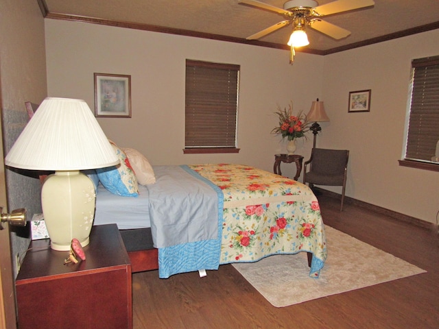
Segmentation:
<svg viewBox="0 0 439 329">
<path fill-rule="evenodd" d="M 95 73 L 95 117 L 131 117 L 131 75 Z"/>
</svg>

